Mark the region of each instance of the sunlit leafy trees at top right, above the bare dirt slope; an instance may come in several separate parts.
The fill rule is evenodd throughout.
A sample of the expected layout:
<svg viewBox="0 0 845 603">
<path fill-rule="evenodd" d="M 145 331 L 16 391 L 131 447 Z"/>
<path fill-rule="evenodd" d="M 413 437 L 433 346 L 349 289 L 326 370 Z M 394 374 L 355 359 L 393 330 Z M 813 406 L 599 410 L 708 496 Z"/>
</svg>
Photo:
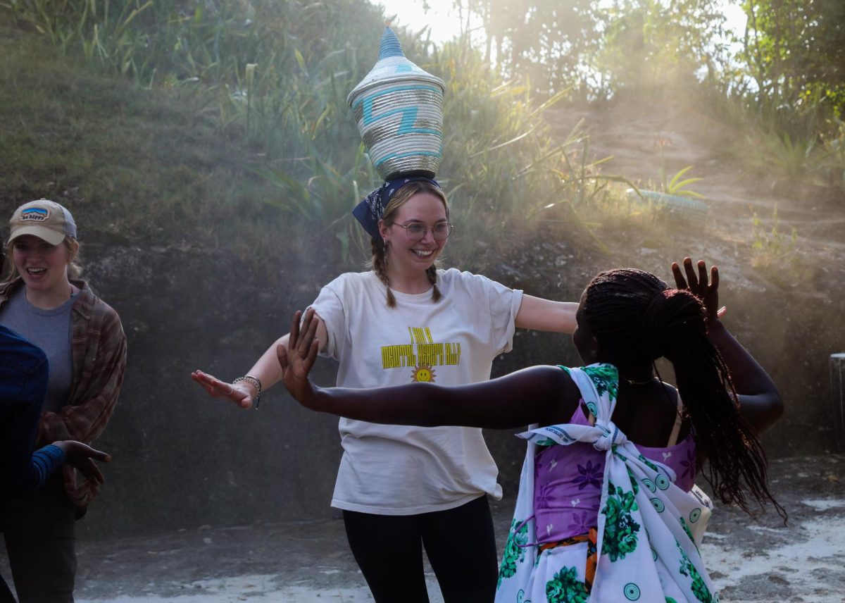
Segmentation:
<svg viewBox="0 0 845 603">
<path fill-rule="evenodd" d="M 504 77 L 585 101 L 685 98 L 750 133 L 728 150 L 735 158 L 842 193 L 845 3 L 734 4 L 747 25 L 729 32 L 716 0 L 466 0 Z"/>
</svg>

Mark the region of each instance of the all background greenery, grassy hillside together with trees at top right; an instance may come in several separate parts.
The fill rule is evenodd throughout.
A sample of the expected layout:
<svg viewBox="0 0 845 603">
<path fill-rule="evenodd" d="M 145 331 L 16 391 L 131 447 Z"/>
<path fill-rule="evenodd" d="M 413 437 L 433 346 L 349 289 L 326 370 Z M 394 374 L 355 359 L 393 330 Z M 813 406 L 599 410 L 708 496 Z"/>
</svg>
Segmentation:
<svg viewBox="0 0 845 603">
<path fill-rule="evenodd" d="M 716 0 L 456 2 L 484 25 L 478 47 L 400 35 L 447 85 L 439 178 L 461 263 L 482 268 L 538 222 L 605 249 L 662 220 L 626 198 L 634 184 L 605 171 L 586 124 L 549 125 L 561 102 L 680 98 L 743 133 L 723 157 L 845 191 L 841 3 L 745 0 L 732 48 Z M 368 241 L 349 210 L 378 178 L 346 94 L 382 19 L 363 0 L 0 0 L 0 193 L 71 199 L 127 240 L 201 240 L 267 266 L 317 240 L 357 264 Z M 668 178 L 661 160 L 662 192 L 698 196 L 689 170 Z"/>
</svg>

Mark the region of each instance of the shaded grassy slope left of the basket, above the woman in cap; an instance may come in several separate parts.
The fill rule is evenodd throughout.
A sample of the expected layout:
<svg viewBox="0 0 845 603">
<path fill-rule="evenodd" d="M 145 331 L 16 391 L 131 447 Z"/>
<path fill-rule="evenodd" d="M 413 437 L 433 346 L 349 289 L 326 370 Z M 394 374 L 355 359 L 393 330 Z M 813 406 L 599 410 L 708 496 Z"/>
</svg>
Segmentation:
<svg viewBox="0 0 845 603">
<path fill-rule="evenodd" d="M 259 173 L 283 170 L 312 187 L 314 161 L 349 170 L 360 139 L 345 96 L 377 52 L 375 8 L 9 0 L 0 26 L 11 113 L 0 144 L 21 170 L 3 184 L 7 198 L 67 190 L 74 207 L 96 208 L 83 222 L 92 229 L 202 240 L 249 258 L 295 251 L 301 227 L 338 217 L 313 205 L 308 221 L 292 219 L 294 204 Z M 372 34 L 357 49 L 345 27 Z M 42 107 L 42 123 L 27 123 Z M 31 140 L 39 129 L 48 148 Z M 37 188 L 21 186 L 34 177 Z"/>
</svg>

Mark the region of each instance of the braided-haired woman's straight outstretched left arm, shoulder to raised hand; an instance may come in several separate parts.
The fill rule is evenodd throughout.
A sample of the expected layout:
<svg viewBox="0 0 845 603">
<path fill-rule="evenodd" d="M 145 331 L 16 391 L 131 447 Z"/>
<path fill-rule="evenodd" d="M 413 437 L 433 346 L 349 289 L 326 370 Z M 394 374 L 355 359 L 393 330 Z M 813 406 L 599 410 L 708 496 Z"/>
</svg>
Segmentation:
<svg viewBox="0 0 845 603">
<path fill-rule="evenodd" d="M 277 348 L 282 381 L 303 406 L 350 419 L 390 425 L 466 425 L 509 429 L 570 418 L 579 392 L 569 374 L 554 366 L 534 366 L 466 386 L 412 383 L 374 389 L 314 386 L 308 372 L 317 355 L 316 327 L 308 310 L 299 327 L 294 316 L 287 347 Z"/>
</svg>

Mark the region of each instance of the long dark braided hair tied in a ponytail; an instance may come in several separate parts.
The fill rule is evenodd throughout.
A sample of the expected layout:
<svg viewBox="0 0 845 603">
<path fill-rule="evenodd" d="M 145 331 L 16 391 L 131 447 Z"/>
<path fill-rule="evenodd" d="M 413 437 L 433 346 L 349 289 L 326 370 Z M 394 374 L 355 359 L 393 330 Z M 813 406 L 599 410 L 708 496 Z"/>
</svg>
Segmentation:
<svg viewBox="0 0 845 603">
<path fill-rule="evenodd" d="M 614 365 L 637 365 L 665 356 L 672 362 L 695 447 L 709 461 L 705 479 L 718 498 L 749 512 L 746 494 L 771 502 L 766 454 L 739 414 L 739 399 L 722 355 L 707 338 L 706 312 L 689 291 L 635 269 L 605 271 L 587 287 L 588 328 Z"/>
</svg>

